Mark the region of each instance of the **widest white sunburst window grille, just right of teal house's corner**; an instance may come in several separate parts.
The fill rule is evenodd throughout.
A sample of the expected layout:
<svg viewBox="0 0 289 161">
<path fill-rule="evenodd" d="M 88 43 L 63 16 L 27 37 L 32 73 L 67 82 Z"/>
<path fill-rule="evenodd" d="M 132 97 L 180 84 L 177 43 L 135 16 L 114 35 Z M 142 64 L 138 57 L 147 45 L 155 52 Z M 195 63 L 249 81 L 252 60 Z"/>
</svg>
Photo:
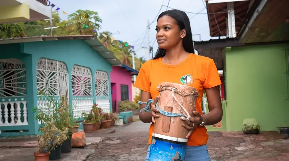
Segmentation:
<svg viewBox="0 0 289 161">
<path fill-rule="evenodd" d="M 40 58 L 36 78 L 38 95 L 68 96 L 68 70 L 64 62 Z"/>
</svg>

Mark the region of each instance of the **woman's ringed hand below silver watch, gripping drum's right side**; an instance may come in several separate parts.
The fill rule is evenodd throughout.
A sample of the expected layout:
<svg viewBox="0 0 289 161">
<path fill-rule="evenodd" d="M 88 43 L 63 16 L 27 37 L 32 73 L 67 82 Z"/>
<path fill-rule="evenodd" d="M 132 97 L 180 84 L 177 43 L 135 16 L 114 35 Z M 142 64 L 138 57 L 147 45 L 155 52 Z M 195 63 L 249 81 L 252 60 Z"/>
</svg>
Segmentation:
<svg viewBox="0 0 289 161">
<path fill-rule="evenodd" d="M 186 136 L 186 139 L 192 134 L 192 131 L 196 129 L 196 127 L 201 123 L 201 115 L 198 111 L 193 111 L 194 118 L 190 118 L 190 120 L 183 120 L 184 123 L 181 124 L 182 127 L 189 130 L 188 135 Z"/>
</svg>

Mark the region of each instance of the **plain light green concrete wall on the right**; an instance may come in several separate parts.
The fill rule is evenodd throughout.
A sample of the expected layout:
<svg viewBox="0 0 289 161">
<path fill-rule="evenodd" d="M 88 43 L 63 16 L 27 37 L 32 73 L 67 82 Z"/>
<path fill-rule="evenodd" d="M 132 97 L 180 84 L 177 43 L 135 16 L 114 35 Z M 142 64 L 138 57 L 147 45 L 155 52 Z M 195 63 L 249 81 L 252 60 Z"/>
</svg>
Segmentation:
<svg viewBox="0 0 289 161">
<path fill-rule="evenodd" d="M 227 131 L 242 131 L 255 118 L 260 131 L 289 127 L 289 44 L 227 48 Z"/>
</svg>

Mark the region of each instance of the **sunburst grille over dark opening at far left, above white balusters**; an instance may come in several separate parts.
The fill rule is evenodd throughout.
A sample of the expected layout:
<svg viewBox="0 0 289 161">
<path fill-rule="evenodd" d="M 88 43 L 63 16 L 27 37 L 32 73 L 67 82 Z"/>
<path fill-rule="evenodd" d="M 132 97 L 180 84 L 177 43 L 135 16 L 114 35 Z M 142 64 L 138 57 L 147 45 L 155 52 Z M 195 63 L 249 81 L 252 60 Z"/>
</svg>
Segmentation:
<svg viewBox="0 0 289 161">
<path fill-rule="evenodd" d="M 26 70 L 18 59 L 0 60 L 0 97 L 26 96 Z"/>
</svg>

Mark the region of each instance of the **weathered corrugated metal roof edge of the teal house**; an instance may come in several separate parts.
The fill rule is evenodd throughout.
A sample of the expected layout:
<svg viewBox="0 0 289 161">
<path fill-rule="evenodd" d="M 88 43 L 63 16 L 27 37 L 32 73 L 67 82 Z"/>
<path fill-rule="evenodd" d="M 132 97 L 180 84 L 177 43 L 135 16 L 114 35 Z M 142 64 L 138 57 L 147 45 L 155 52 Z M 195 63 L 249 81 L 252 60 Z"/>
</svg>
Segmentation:
<svg viewBox="0 0 289 161">
<path fill-rule="evenodd" d="M 97 40 L 94 35 L 67 35 L 67 36 L 34 36 L 34 37 L 21 37 L 12 39 L 0 39 L 0 44 L 12 44 L 12 43 L 27 43 L 36 41 L 57 41 L 57 40 L 83 40 L 92 49 L 102 55 L 106 61 L 110 62 L 112 66 L 121 66 L 119 61 L 111 51 L 109 51 L 101 42 Z"/>
</svg>

